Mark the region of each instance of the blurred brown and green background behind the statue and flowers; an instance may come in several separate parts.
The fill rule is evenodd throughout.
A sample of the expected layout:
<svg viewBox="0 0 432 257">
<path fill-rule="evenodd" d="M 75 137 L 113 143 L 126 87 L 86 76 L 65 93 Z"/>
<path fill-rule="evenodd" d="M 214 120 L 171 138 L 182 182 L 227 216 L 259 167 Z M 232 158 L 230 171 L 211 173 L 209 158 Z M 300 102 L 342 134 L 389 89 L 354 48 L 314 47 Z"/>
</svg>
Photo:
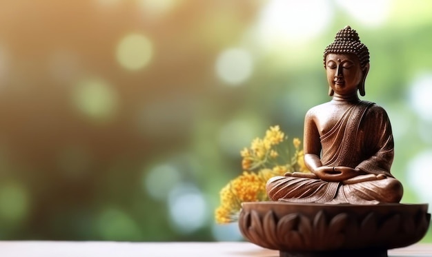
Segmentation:
<svg viewBox="0 0 432 257">
<path fill-rule="evenodd" d="M 215 225 L 239 151 L 302 137 L 351 25 L 404 203 L 432 203 L 432 1 L 0 3 L 0 239 L 242 240 Z M 429 234 L 424 239 L 432 242 Z"/>
</svg>

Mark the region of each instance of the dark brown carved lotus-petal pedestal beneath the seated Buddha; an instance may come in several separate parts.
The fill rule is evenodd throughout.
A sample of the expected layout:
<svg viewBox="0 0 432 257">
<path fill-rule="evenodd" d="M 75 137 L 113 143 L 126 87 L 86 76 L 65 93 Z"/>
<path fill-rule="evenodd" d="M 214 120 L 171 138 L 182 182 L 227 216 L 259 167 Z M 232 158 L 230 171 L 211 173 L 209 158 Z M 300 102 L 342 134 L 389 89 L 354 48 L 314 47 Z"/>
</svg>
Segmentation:
<svg viewBox="0 0 432 257">
<path fill-rule="evenodd" d="M 251 202 L 242 205 L 239 227 L 249 241 L 280 256 L 387 256 L 387 249 L 422 239 L 431 219 L 427 208 Z"/>
</svg>

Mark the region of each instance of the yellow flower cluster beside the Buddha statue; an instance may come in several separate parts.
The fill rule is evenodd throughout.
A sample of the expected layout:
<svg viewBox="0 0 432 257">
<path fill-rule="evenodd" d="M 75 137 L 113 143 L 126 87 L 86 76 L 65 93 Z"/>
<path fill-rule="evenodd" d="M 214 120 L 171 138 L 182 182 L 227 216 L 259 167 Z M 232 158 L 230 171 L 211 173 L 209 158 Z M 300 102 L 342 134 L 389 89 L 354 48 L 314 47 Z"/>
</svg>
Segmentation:
<svg viewBox="0 0 432 257">
<path fill-rule="evenodd" d="M 217 223 L 230 223 L 237 220 L 242 203 L 268 201 L 266 183 L 273 176 L 286 172 L 309 172 L 303 161 L 302 142 L 293 139 L 295 152 L 289 157 L 289 145 L 281 144 L 288 136 L 278 125 L 270 127 L 264 138 L 255 138 L 251 147 L 240 152 L 244 172 L 222 188 L 221 205 L 215 211 Z"/>
</svg>

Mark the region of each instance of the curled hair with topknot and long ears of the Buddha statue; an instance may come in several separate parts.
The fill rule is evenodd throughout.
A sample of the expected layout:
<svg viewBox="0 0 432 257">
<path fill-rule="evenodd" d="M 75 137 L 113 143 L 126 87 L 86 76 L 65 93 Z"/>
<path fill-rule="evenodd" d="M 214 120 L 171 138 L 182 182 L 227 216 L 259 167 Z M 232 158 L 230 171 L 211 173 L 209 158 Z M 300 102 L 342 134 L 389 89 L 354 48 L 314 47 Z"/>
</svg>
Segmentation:
<svg viewBox="0 0 432 257">
<path fill-rule="evenodd" d="M 351 29 L 350 26 L 346 26 L 342 30 L 339 30 L 336 34 L 335 41 L 328 45 L 324 50 L 324 68 L 326 67 L 326 57 L 328 54 L 344 54 L 351 56 L 353 61 L 360 63 L 360 69 L 362 78 L 360 83 L 357 85 L 357 89 L 360 95 L 364 96 L 364 82 L 366 81 L 367 73 L 369 72 L 369 50 L 360 41 L 360 37 L 357 32 Z M 330 88 L 328 94 L 332 96 L 334 91 Z"/>
</svg>

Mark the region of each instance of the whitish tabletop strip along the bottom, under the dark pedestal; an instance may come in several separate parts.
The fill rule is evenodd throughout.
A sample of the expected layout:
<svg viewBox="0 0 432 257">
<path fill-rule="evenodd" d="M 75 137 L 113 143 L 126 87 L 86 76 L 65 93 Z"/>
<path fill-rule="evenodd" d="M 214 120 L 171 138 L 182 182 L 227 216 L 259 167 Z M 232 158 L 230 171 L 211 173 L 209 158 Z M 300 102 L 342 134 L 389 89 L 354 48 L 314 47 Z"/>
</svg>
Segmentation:
<svg viewBox="0 0 432 257">
<path fill-rule="evenodd" d="M 246 242 L 221 243 L 121 243 L 121 242 L 53 242 L 0 241 L 1 257 L 164 257 L 221 256 L 277 257 L 279 251 L 264 249 Z M 432 244 L 416 244 L 389 250 L 391 257 L 432 256 Z"/>
</svg>

